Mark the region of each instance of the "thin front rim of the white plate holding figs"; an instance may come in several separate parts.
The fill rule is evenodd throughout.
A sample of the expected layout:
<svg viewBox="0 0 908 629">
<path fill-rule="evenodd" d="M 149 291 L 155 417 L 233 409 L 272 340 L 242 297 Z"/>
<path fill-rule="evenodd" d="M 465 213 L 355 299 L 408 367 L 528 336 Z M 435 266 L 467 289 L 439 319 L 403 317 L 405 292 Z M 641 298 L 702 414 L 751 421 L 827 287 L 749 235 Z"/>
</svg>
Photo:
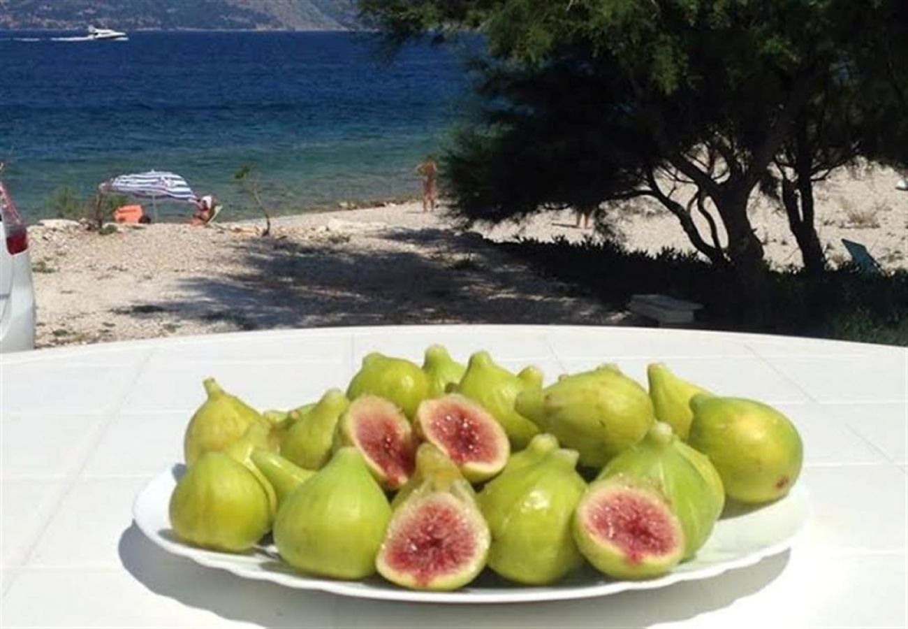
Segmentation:
<svg viewBox="0 0 908 629">
<path fill-rule="evenodd" d="M 186 559 L 189 559 L 196 564 L 200 564 L 208 568 L 224 570 L 244 579 L 252 579 L 253 581 L 270 582 L 280 584 L 284 587 L 291 587 L 293 589 L 325 592 L 328 594 L 338 594 L 341 596 L 350 596 L 354 598 L 405 603 L 512 604 L 569 601 L 596 598 L 598 596 L 606 596 L 608 594 L 618 594 L 620 592 L 634 590 L 653 590 L 687 581 L 711 579 L 730 570 L 745 568 L 747 566 L 757 564 L 767 557 L 784 553 L 794 545 L 797 537 L 803 533 L 805 524 L 807 524 L 807 522 L 811 519 L 812 515 L 809 496 L 804 489 L 803 484 L 795 484 L 791 492 L 787 494 L 785 498 L 783 498 L 783 500 L 800 501 L 804 509 L 804 515 L 801 518 L 800 522 L 798 522 L 798 524 L 796 525 L 795 530 L 791 534 L 788 534 L 784 539 L 779 540 L 775 544 L 769 544 L 763 548 L 760 548 L 759 550 L 755 550 L 754 552 L 734 559 L 720 561 L 716 564 L 704 566 L 703 568 L 697 570 L 670 572 L 656 579 L 648 579 L 644 581 L 617 580 L 606 584 L 578 585 L 564 589 L 544 589 L 529 586 L 524 590 L 515 589 L 513 593 L 502 593 L 502 591 L 500 590 L 483 593 L 477 591 L 428 592 L 419 590 L 407 590 L 404 588 L 400 588 L 399 590 L 375 589 L 370 587 L 363 587 L 363 584 L 360 581 L 348 582 L 321 579 L 317 577 L 308 577 L 301 574 L 284 574 L 273 571 L 247 570 L 242 564 L 232 564 L 229 561 L 218 558 L 216 554 L 213 558 L 209 556 L 209 554 L 216 553 L 215 551 L 209 551 L 203 548 L 195 548 L 193 546 L 179 544 L 177 542 L 165 539 L 157 531 L 148 530 L 143 518 L 139 516 L 139 511 L 144 504 L 149 502 L 149 494 L 153 486 L 163 483 L 163 479 L 165 479 L 165 477 L 171 482 L 175 483 L 175 480 L 173 479 L 173 465 L 163 470 L 163 472 L 154 475 L 146 484 L 143 485 L 139 493 L 136 494 L 136 497 L 133 500 L 133 524 L 135 524 L 139 528 L 139 530 L 142 531 L 145 537 L 147 537 L 153 544 L 155 544 L 159 548 L 162 548 L 167 553 L 185 557 Z M 223 555 L 224 557 L 232 556 L 230 554 L 223 553 L 221 555 Z"/>
</svg>

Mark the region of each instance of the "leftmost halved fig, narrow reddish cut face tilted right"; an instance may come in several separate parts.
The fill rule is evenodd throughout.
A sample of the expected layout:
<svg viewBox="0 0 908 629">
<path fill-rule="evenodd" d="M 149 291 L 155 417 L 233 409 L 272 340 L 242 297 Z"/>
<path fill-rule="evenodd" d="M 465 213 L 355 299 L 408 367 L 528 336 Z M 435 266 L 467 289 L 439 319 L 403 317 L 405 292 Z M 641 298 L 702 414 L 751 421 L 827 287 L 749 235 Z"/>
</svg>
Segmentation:
<svg viewBox="0 0 908 629">
<path fill-rule="evenodd" d="M 369 471 L 386 489 L 399 489 L 413 474 L 416 442 L 406 415 L 377 395 L 353 400 L 338 425 L 341 446 L 360 451 Z"/>
</svg>

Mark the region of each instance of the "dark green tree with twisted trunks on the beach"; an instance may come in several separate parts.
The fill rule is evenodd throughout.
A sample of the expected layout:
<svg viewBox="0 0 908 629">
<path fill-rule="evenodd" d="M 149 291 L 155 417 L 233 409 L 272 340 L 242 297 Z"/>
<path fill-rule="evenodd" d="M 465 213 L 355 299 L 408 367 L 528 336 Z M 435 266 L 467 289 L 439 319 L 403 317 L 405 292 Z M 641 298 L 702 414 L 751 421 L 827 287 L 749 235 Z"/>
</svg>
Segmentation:
<svg viewBox="0 0 908 629">
<path fill-rule="evenodd" d="M 755 303 L 765 295 L 766 265 L 747 214 L 752 197 L 762 189 L 787 199 L 805 262 L 822 269 L 808 188 L 827 170 L 882 154 L 868 134 L 908 115 L 893 95 L 901 70 L 887 80 L 884 65 L 873 63 L 884 45 L 893 65 L 908 63 L 903 0 L 360 7 L 392 44 L 484 35 L 488 55 L 472 65 L 482 119 L 459 133 L 444 162 L 459 215 L 498 222 L 650 197 L 700 253 L 735 272 Z M 839 97 L 871 87 L 883 113 Z M 830 112 L 834 134 L 825 125 Z"/>
</svg>

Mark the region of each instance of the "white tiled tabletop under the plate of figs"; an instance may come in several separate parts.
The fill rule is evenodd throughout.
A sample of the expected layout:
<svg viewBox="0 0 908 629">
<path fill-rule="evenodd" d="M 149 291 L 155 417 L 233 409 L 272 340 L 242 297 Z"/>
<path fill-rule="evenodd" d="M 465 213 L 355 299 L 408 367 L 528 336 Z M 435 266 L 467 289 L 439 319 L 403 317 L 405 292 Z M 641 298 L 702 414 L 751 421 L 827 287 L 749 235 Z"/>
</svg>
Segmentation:
<svg viewBox="0 0 908 629">
<path fill-rule="evenodd" d="M 261 408 L 343 386 L 363 354 L 562 371 L 664 361 L 798 425 L 813 517 L 785 553 L 713 579 L 597 599 L 429 605 L 255 583 L 173 557 L 133 497 L 181 459 L 183 426 L 217 377 Z M 90 345 L 0 357 L 0 626 L 904 627 L 908 352 L 685 330 L 558 326 L 335 328 Z"/>
</svg>

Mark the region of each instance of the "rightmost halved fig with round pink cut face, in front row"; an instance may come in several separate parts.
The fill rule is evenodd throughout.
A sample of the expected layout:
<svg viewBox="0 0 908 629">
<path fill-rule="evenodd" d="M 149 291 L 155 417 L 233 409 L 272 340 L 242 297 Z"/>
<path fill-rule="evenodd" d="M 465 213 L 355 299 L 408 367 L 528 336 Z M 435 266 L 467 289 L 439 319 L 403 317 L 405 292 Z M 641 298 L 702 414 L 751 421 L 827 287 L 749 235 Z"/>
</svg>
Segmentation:
<svg viewBox="0 0 908 629">
<path fill-rule="evenodd" d="M 620 477 L 589 485 L 573 532 L 589 563 L 617 579 L 666 574 L 684 556 L 684 529 L 665 497 Z"/>
</svg>

